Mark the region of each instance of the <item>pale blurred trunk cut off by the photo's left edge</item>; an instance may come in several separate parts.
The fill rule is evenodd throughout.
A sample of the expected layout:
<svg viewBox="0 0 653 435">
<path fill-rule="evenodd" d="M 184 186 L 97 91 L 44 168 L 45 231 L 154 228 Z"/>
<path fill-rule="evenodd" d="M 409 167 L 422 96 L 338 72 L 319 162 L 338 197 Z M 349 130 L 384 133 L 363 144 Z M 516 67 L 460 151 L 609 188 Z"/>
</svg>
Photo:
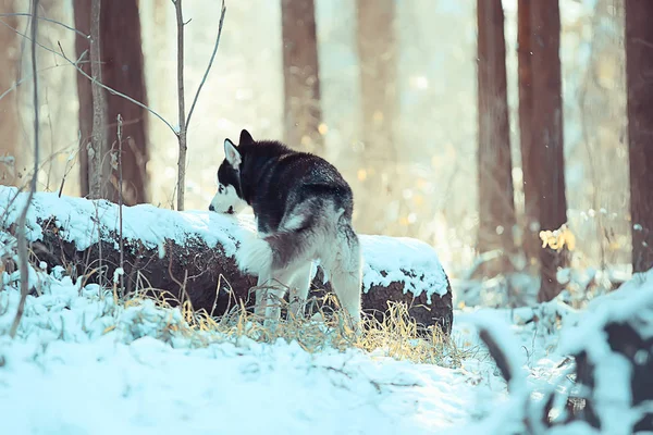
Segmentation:
<svg viewBox="0 0 653 435">
<path fill-rule="evenodd" d="M 0 0 L 0 11 L 14 12 L 13 0 Z M 2 17 L 9 26 L 16 28 L 15 16 Z M 0 95 L 10 89 L 19 75 L 19 37 L 15 32 L 7 26 L 0 26 Z M 9 92 L 0 99 L 0 184 L 14 185 L 19 183 L 19 105 L 16 94 Z"/>
</svg>

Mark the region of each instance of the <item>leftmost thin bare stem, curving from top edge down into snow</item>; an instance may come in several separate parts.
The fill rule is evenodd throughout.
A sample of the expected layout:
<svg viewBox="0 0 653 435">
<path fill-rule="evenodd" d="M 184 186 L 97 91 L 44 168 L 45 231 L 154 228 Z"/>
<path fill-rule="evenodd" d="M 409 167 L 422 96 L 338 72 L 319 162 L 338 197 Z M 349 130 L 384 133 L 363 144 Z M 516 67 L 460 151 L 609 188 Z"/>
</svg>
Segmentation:
<svg viewBox="0 0 653 435">
<path fill-rule="evenodd" d="M 21 260 L 21 264 L 19 265 L 21 272 L 21 300 L 19 302 L 19 309 L 16 311 L 16 316 L 11 325 L 11 330 L 9 332 L 9 336 L 14 338 L 16 336 L 16 332 L 19 331 L 19 325 L 21 324 L 21 319 L 23 318 L 23 312 L 25 310 L 25 300 L 27 299 L 27 293 L 29 293 L 29 271 L 27 269 L 27 238 L 25 236 L 25 223 L 27 222 L 27 210 L 29 209 L 29 204 L 32 202 L 32 198 L 34 197 L 34 192 L 36 191 L 36 178 L 38 176 L 38 148 L 39 148 L 39 137 L 38 137 L 38 123 L 39 123 L 39 110 L 38 110 L 38 75 L 37 75 L 37 66 L 36 66 L 36 32 L 38 28 L 38 20 L 36 20 L 36 10 L 38 8 L 38 0 L 33 0 L 32 2 L 32 79 L 34 85 L 34 174 L 32 175 L 32 183 L 29 186 L 29 195 L 27 196 L 27 201 L 25 203 L 25 208 L 21 213 L 21 219 L 19 221 L 17 236 L 19 236 L 19 259 Z"/>
</svg>

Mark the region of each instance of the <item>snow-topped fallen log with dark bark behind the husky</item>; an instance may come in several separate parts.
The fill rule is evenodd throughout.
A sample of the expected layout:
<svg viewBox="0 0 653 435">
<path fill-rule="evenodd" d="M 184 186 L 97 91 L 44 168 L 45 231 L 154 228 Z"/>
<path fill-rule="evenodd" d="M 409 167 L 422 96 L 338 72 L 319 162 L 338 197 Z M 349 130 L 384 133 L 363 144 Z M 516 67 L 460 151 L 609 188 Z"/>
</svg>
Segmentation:
<svg viewBox="0 0 653 435">
<path fill-rule="evenodd" d="M 26 200 L 13 187 L 0 186 L 0 228 L 15 229 Z M 77 276 L 97 279 L 99 266 L 111 281 L 121 268 L 128 291 L 165 290 L 181 300 L 184 291 L 195 309 L 223 314 L 243 300 L 254 303 L 249 289 L 256 277 L 243 274 L 235 253 L 256 236 L 249 216 L 208 211 L 159 209 L 149 204 L 119 207 L 106 200 L 37 194 L 30 206 L 26 235 L 32 250 L 48 266 L 62 265 Z M 365 259 L 362 309 L 381 319 L 389 301 L 406 302 L 421 325 L 440 325 L 448 333 L 453 321 L 448 278 L 433 248 L 419 240 L 360 236 Z M 322 274 L 313 289 L 329 290 Z"/>
</svg>

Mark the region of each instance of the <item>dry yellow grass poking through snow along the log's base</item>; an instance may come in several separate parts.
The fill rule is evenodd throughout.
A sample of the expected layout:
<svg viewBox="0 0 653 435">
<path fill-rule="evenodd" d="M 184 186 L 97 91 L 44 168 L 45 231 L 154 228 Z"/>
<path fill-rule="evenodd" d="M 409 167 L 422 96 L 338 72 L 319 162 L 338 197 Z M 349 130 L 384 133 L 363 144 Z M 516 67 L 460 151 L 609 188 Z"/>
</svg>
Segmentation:
<svg viewBox="0 0 653 435">
<path fill-rule="evenodd" d="M 156 296 L 149 296 L 149 295 Z M 121 303 L 114 291 L 116 303 Z M 308 352 L 320 352 L 326 349 L 345 351 L 358 348 L 373 358 L 393 358 L 416 363 L 459 366 L 461 361 L 471 356 L 473 349 L 465 348 L 446 337 L 439 327 L 424 328 L 418 325 L 408 313 L 405 303 L 389 302 L 389 309 L 379 321 L 372 316 L 364 319 L 364 332 L 356 334 L 352 328 L 349 316 L 340 309 L 331 310 L 328 303 L 337 306 L 333 295 L 326 300 L 313 300 L 316 314 L 312 316 L 283 319 L 273 326 L 263 324 L 243 304 L 235 304 L 221 316 L 211 316 L 201 310 L 194 310 L 189 300 L 178 301 L 165 291 L 141 288 L 122 303 L 125 308 L 139 306 L 145 300 L 153 300 L 162 309 L 178 309 L 183 322 L 170 318 L 167 325 L 160 328 L 161 337 L 169 334 L 181 334 L 198 345 L 215 341 L 243 343 L 255 340 L 274 343 L 279 339 L 296 341 Z M 282 310 L 288 303 L 281 301 Z M 176 308 L 175 308 L 176 307 Z"/>
</svg>

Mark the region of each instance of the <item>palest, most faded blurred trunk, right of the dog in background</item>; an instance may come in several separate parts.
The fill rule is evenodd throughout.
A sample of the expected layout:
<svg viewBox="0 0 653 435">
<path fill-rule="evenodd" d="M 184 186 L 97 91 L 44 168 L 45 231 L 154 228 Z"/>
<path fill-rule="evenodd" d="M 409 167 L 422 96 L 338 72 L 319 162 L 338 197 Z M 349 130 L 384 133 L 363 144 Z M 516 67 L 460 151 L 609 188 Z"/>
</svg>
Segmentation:
<svg viewBox="0 0 653 435">
<path fill-rule="evenodd" d="M 367 157 L 378 159 L 394 144 L 397 109 L 395 0 L 357 0 L 362 134 Z"/>
</svg>

